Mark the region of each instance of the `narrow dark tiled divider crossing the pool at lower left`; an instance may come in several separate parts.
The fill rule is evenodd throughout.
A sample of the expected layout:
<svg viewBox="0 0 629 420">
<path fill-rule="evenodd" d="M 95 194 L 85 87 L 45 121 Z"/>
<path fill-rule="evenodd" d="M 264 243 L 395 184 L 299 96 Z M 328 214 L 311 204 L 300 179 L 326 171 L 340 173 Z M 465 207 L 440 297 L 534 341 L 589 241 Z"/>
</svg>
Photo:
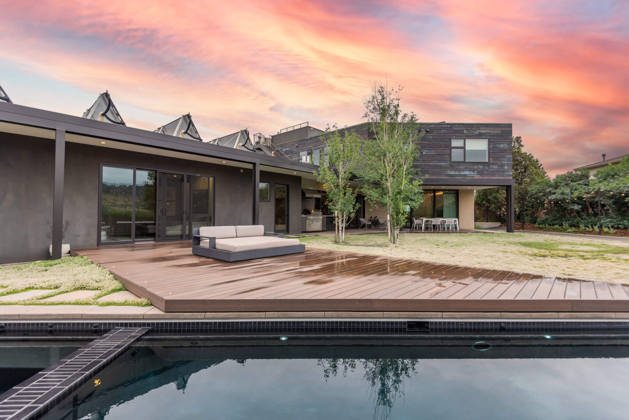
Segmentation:
<svg viewBox="0 0 629 420">
<path fill-rule="evenodd" d="M 35 419 L 142 337 L 148 327 L 116 327 L 0 395 L 0 419 Z"/>
</svg>

